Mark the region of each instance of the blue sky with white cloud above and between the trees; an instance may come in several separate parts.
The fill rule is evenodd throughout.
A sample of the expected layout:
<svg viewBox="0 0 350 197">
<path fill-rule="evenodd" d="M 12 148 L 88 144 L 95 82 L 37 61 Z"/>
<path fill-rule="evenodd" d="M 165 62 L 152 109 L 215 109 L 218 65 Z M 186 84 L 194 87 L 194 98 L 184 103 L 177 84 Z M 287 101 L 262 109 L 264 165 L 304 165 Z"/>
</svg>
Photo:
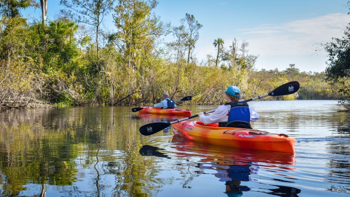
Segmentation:
<svg viewBox="0 0 350 197">
<path fill-rule="evenodd" d="M 37 0 L 40 2 L 39 0 Z M 158 0 L 154 12 L 162 21 L 179 26 L 185 14 L 194 15 L 203 25 L 195 53 L 199 61 L 207 54 L 216 56 L 214 39 L 222 38 L 224 47 L 233 39 L 249 43 L 248 53 L 258 55 L 255 68 L 285 70 L 295 64 L 300 71 L 322 72 L 327 53 L 321 43 L 341 38 L 350 23 L 348 0 Z M 49 20 L 59 16 L 59 0 L 48 0 Z M 41 9 L 26 9 L 24 17 L 40 19 Z M 105 18 L 113 29 L 111 17 Z M 172 41 L 173 35 L 164 38 Z"/>
</svg>

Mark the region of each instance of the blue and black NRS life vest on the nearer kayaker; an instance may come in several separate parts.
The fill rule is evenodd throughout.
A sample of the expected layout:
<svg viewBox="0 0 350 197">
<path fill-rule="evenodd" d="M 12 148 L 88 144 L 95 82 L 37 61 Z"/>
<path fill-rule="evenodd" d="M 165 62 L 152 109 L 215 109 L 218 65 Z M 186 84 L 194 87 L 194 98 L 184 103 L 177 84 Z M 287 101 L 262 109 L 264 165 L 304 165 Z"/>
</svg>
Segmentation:
<svg viewBox="0 0 350 197">
<path fill-rule="evenodd" d="M 247 102 L 230 102 L 226 103 L 225 105 L 231 105 L 231 109 L 229 112 L 229 119 L 227 122 L 231 121 L 244 121 L 249 123 L 250 122 L 250 111 L 249 111 L 249 105 Z"/>
</svg>

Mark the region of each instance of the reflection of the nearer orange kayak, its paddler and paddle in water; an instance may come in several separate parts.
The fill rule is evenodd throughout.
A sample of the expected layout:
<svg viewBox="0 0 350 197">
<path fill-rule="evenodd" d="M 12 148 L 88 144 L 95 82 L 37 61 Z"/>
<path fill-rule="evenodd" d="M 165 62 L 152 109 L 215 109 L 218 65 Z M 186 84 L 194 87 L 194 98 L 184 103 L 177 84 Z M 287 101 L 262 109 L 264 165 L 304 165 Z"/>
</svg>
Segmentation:
<svg viewBox="0 0 350 197">
<path fill-rule="evenodd" d="M 143 145 L 139 152 L 142 156 L 156 156 L 174 160 L 167 162 L 167 165 L 173 163 L 173 165 L 192 168 L 190 171 L 193 171 L 194 174 L 191 174 L 184 181 L 183 188 L 188 188 L 187 185 L 196 177 L 211 174 L 217 177 L 218 181 L 224 182 L 223 192 L 227 196 L 242 196 L 247 191 L 276 196 L 297 196 L 301 191 L 295 187 L 283 185 L 283 183 L 295 183 L 295 178 L 288 175 L 289 172 L 295 170 L 293 167 L 295 157 L 292 154 L 222 147 L 192 142 L 176 136 L 173 137 L 172 143 L 174 144 L 172 148 L 175 150 Z M 170 156 L 174 154 L 176 155 Z M 178 160 L 183 162 L 176 162 Z M 179 170 L 181 171 L 181 168 Z M 264 177 L 259 175 L 259 170 L 273 171 L 279 178 Z M 268 179 L 268 183 L 264 183 L 266 179 Z M 259 183 L 260 186 L 247 186 L 248 182 Z"/>
</svg>

